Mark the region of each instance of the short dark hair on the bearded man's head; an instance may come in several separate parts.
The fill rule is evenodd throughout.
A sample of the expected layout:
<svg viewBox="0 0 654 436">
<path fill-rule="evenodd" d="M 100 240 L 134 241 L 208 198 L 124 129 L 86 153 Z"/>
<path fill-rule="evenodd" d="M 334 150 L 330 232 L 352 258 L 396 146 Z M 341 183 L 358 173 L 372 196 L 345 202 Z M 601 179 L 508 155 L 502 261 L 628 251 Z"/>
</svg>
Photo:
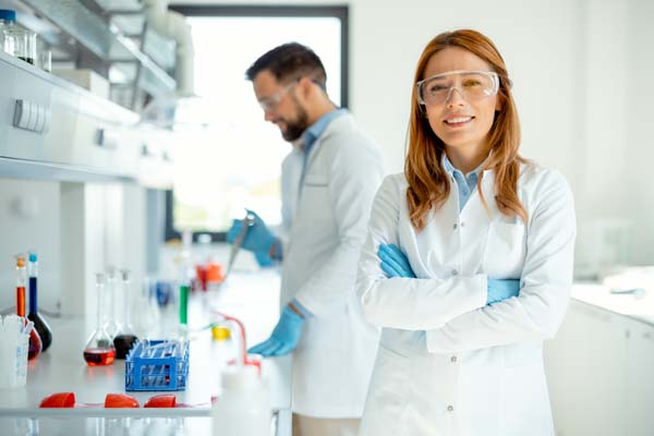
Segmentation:
<svg viewBox="0 0 654 436">
<path fill-rule="evenodd" d="M 282 44 L 266 52 L 245 71 L 245 77 L 253 81 L 263 70 L 269 70 L 278 82 L 306 76 L 323 88 L 327 82 L 327 73 L 320 58 L 299 43 Z"/>
</svg>

